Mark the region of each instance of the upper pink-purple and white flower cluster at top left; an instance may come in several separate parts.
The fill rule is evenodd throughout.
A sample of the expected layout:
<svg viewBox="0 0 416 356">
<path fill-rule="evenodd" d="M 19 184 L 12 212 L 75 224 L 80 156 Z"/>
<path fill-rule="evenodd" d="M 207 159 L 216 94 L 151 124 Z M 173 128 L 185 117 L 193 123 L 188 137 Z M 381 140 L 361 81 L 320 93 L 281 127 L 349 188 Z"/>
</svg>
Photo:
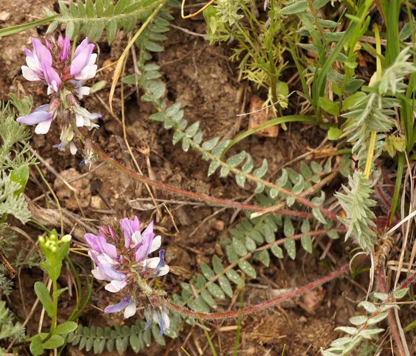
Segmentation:
<svg viewBox="0 0 416 356">
<path fill-rule="evenodd" d="M 54 145 L 62 149 L 70 146 L 71 153 L 75 154 L 77 147 L 74 143 L 75 134 L 71 126 L 71 118 L 74 118 L 76 127 L 86 127 L 88 130 L 98 128 L 92 121 L 101 117 L 99 113 L 91 113 L 81 107 L 75 96 L 82 98 L 90 94 L 90 88 L 83 86 L 84 81 L 96 75 L 97 54 L 93 53 L 94 44 L 88 43 L 88 38 L 75 49 L 73 59 L 70 60 L 70 41 L 65 36 L 53 37 L 50 42 L 46 40 L 46 46 L 37 38 L 32 38 L 33 52 L 25 48 L 26 64 L 22 66 L 23 76 L 30 81 L 44 81 L 48 86 L 47 93 L 51 95 L 49 104 L 37 107 L 32 113 L 17 118 L 20 123 L 37 125 L 36 134 L 46 134 L 52 121 L 55 119 L 58 108 L 62 120 L 61 143 Z M 75 95 L 75 96 L 74 96 Z M 63 102 L 65 101 L 65 102 Z M 65 112 L 68 111 L 68 112 Z M 87 157 L 87 159 L 91 157 Z"/>
</svg>

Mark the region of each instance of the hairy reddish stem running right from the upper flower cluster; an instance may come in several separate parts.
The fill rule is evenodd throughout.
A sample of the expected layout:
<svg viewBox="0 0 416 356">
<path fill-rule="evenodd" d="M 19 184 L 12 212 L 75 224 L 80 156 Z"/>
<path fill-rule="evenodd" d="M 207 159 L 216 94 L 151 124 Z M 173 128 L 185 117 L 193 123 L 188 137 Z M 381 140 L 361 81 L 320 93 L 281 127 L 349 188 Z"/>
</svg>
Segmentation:
<svg viewBox="0 0 416 356">
<path fill-rule="evenodd" d="M 87 135 L 84 132 L 82 132 L 82 130 L 80 130 L 80 128 L 76 128 L 76 129 L 78 130 L 78 132 L 85 139 L 88 139 Z M 130 176 L 132 178 L 135 178 L 135 179 L 137 179 L 141 182 L 152 185 L 156 188 L 167 190 L 167 191 L 170 191 L 170 192 L 175 193 L 175 194 L 185 195 L 185 196 L 188 196 L 188 197 L 196 199 L 196 200 L 209 201 L 209 202 L 212 202 L 216 205 L 225 205 L 225 206 L 229 206 L 229 207 L 241 208 L 241 209 L 244 209 L 244 210 L 256 210 L 256 211 L 260 211 L 260 210 L 265 209 L 265 207 L 263 207 L 263 206 L 252 205 L 252 204 L 244 204 L 244 203 L 239 203 L 237 201 L 215 198 L 215 197 L 212 197 L 212 196 L 209 196 L 209 195 L 190 192 L 190 191 L 187 191 L 187 190 L 184 190 L 184 189 L 173 187 L 171 185 L 167 185 L 167 184 L 163 184 L 161 182 L 157 182 L 155 180 L 147 178 L 147 177 L 145 177 L 141 174 L 138 174 L 138 173 L 124 167 L 122 164 L 120 164 L 117 161 L 110 158 L 110 156 L 108 156 L 103 150 L 101 150 L 94 143 L 91 143 L 91 147 L 98 156 L 100 156 L 104 161 L 106 161 L 108 164 L 110 164 L 114 168 L 124 172 L 125 174 L 127 174 L 128 176 Z M 313 214 L 303 212 L 303 211 L 291 211 L 291 210 L 278 209 L 278 210 L 275 210 L 274 212 L 277 213 L 277 214 L 282 214 L 282 215 L 313 218 Z"/>
</svg>

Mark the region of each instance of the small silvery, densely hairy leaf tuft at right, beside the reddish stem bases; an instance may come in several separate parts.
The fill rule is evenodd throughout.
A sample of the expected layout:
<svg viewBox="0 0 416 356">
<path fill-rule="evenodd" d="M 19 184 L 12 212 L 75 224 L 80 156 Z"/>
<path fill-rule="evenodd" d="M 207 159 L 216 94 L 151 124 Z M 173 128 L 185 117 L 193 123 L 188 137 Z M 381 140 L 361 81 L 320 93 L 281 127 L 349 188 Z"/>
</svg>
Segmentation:
<svg viewBox="0 0 416 356">
<path fill-rule="evenodd" d="M 369 198 L 373 189 L 371 189 L 369 179 L 364 176 L 364 172 L 355 170 L 353 176 L 348 177 L 348 183 L 350 188 L 343 185 L 346 194 L 335 193 L 347 215 L 346 219 L 340 218 L 348 225 L 345 240 L 347 241 L 351 235 L 355 236 L 358 245 L 369 253 L 375 237 L 375 232 L 369 226 L 376 226 L 370 220 L 375 218 L 370 207 L 375 206 L 377 202 Z"/>
</svg>

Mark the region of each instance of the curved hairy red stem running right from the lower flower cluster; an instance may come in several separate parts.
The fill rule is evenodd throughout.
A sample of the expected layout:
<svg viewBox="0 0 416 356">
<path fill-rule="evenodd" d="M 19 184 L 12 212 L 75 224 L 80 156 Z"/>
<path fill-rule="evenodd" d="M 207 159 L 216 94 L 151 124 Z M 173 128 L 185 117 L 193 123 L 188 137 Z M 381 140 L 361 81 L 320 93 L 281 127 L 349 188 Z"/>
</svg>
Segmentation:
<svg viewBox="0 0 416 356">
<path fill-rule="evenodd" d="M 288 294 L 285 294 L 285 295 L 283 295 L 279 298 L 272 299 L 272 300 L 270 300 L 266 303 L 262 303 L 262 304 L 255 305 L 255 306 L 252 306 L 252 307 L 244 308 L 242 310 L 225 311 L 225 312 L 222 312 L 222 313 L 212 313 L 212 314 L 210 314 L 210 313 L 198 313 L 198 312 L 195 312 L 195 311 L 191 311 L 191 310 L 182 308 L 182 307 L 170 302 L 169 300 L 164 299 L 163 297 L 152 296 L 152 298 L 154 299 L 153 300 L 154 302 L 164 304 L 169 309 L 177 311 L 178 313 L 180 313 L 184 316 L 190 316 L 190 317 L 193 317 L 193 318 L 201 318 L 201 319 L 210 319 L 210 320 L 225 319 L 225 318 L 229 318 L 229 317 L 237 317 L 238 314 L 246 315 L 246 314 L 254 313 L 254 312 L 259 311 L 259 310 L 270 308 L 270 307 L 272 307 L 276 304 L 279 304 L 279 303 L 281 303 L 285 300 L 291 299 L 291 298 L 293 298 L 295 296 L 298 296 L 298 295 L 300 295 L 300 294 L 302 294 L 302 293 L 304 293 L 308 290 L 311 290 L 311 289 L 316 288 L 316 287 L 318 287 L 318 286 L 320 286 L 320 285 L 322 285 L 326 282 L 329 282 L 330 280 L 332 280 L 332 279 L 342 275 L 343 273 L 347 272 L 348 269 L 349 269 L 349 264 L 346 264 L 343 267 L 339 268 L 338 270 L 326 275 L 325 277 L 319 278 L 318 280 L 316 280 L 312 283 L 306 284 L 305 286 L 303 286 L 299 289 L 296 289 L 296 290 L 294 290 L 294 291 L 292 291 Z"/>
</svg>

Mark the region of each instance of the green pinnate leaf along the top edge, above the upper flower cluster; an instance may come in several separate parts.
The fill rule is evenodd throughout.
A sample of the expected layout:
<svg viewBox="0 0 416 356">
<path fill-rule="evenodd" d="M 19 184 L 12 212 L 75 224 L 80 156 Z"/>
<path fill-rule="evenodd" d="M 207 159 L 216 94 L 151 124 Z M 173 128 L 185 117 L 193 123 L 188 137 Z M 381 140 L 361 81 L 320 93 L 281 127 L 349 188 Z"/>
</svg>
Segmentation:
<svg viewBox="0 0 416 356">
<path fill-rule="evenodd" d="M 59 23 L 66 24 L 66 36 L 72 39 L 87 31 L 90 42 L 97 42 L 104 29 L 107 30 L 107 40 L 111 44 L 117 30 L 123 28 L 124 33 L 133 31 L 138 21 L 145 20 L 156 6 L 165 3 L 165 0 L 118 0 L 116 5 L 111 0 L 86 0 L 85 5 L 78 1 L 76 5 L 69 1 L 69 10 L 63 2 L 59 2 L 62 17 L 53 21 L 47 33 L 53 32 Z M 171 6 L 179 6 L 176 0 L 168 0 Z M 162 17 L 170 17 L 167 10 L 162 8 L 159 12 Z M 52 16 L 50 10 L 45 8 L 45 15 Z"/>
</svg>

